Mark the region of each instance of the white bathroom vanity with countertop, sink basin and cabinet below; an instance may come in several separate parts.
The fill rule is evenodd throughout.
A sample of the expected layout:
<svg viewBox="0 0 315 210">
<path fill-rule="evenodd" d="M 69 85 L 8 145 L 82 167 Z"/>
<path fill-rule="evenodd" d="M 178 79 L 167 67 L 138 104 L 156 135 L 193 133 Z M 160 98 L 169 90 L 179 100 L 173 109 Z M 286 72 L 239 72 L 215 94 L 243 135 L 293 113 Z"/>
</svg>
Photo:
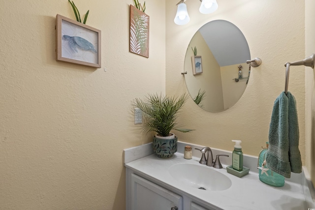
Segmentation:
<svg viewBox="0 0 315 210">
<path fill-rule="evenodd" d="M 283 187 L 258 179 L 257 157 L 244 155 L 250 173 L 242 178 L 227 173 L 231 152 L 213 149 L 221 157 L 222 169 L 199 163 L 193 150 L 185 159 L 186 143 L 178 143 L 171 159 L 152 154 L 147 144 L 125 150 L 126 210 L 303 210 L 315 208 L 304 174 L 292 174 Z M 201 149 L 201 146 L 190 145 Z"/>
</svg>

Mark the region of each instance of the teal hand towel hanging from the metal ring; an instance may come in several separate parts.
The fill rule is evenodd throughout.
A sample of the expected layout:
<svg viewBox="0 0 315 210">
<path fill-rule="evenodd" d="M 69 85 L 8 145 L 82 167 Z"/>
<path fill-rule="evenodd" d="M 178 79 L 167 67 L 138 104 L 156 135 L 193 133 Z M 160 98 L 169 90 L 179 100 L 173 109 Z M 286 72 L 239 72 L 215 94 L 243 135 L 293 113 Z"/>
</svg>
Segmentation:
<svg viewBox="0 0 315 210">
<path fill-rule="evenodd" d="M 266 162 L 270 170 L 285 178 L 291 172 L 302 172 L 296 101 L 290 92 L 282 92 L 274 103 Z"/>
</svg>

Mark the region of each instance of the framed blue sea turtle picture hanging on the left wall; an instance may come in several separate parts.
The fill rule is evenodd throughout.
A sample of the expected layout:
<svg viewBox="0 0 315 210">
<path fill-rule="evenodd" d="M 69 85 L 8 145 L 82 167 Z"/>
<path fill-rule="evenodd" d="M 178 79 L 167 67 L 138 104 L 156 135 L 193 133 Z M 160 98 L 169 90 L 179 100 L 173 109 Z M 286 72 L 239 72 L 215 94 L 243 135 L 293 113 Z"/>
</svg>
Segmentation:
<svg viewBox="0 0 315 210">
<path fill-rule="evenodd" d="M 100 68 L 101 31 L 57 15 L 56 60 Z"/>
</svg>

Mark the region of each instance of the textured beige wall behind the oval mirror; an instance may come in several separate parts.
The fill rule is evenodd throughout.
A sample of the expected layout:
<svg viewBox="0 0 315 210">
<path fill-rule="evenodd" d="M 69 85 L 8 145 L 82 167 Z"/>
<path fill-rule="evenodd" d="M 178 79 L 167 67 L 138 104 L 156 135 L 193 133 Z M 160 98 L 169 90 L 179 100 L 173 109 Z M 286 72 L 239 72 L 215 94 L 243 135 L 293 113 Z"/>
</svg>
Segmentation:
<svg viewBox="0 0 315 210">
<path fill-rule="evenodd" d="M 252 58 L 262 64 L 252 68 L 251 79 L 239 102 L 221 113 L 196 109 L 186 104 L 180 120 L 191 133 L 177 133 L 181 141 L 233 150 L 231 139 L 240 139 L 244 153 L 258 155 L 268 141 L 270 117 L 275 99 L 284 91 L 285 62 L 305 57 L 305 4 L 303 0 L 218 0 L 219 9 L 199 13 L 199 1 L 186 1 L 190 22 L 177 26 L 173 19 L 178 0 L 166 1 L 166 93 L 187 92 L 183 71 L 189 41 L 196 30 L 212 20 L 235 24 L 245 35 Z M 305 164 L 305 70 L 290 71 L 289 91 L 296 97 L 300 151 Z M 308 157 L 309 158 L 309 157 Z"/>
</svg>

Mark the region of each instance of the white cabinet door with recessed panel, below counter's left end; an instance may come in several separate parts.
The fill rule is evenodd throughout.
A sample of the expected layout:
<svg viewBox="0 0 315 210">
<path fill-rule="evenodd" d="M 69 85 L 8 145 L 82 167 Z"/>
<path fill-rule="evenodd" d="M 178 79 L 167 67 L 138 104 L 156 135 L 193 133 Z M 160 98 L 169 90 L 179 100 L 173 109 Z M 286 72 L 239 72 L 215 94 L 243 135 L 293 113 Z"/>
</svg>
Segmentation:
<svg viewBox="0 0 315 210">
<path fill-rule="evenodd" d="M 131 174 L 131 210 L 183 210 L 183 197 Z"/>
</svg>

